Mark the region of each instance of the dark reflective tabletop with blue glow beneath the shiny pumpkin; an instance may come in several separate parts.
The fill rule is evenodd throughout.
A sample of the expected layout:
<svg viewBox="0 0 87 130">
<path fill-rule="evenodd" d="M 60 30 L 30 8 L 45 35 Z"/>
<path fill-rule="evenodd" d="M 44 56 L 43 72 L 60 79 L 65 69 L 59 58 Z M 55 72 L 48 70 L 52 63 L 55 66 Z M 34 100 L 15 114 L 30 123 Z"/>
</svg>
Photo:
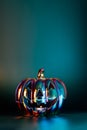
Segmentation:
<svg viewBox="0 0 87 130">
<path fill-rule="evenodd" d="M 87 130 L 87 113 L 55 117 L 0 117 L 0 130 Z"/>
</svg>

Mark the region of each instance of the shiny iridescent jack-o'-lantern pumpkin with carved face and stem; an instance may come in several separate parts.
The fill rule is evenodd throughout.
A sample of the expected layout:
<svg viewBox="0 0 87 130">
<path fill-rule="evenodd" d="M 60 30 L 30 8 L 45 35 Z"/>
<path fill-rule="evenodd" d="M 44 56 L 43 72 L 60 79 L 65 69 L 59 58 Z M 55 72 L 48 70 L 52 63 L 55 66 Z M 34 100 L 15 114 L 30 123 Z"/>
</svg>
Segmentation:
<svg viewBox="0 0 87 130">
<path fill-rule="evenodd" d="M 35 79 L 22 80 L 15 92 L 18 107 L 32 115 L 51 113 L 61 108 L 66 98 L 66 86 L 57 78 L 45 78 L 44 69 Z"/>
</svg>

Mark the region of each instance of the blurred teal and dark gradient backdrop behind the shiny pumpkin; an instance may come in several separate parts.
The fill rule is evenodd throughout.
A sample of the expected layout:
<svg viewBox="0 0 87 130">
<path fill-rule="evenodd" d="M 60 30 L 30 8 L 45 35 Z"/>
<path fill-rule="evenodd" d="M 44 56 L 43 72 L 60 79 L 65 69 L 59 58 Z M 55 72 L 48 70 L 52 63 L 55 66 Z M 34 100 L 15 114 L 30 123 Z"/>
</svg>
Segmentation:
<svg viewBox="0 0 87 130">
<path fill-rule="evenodd" d="M 14 113 L 15 89 L 39 68 L 62 79 L 64 111 L 87 111 L 86 0 L 0 0 L 0 113 Z"/>
</svg>

